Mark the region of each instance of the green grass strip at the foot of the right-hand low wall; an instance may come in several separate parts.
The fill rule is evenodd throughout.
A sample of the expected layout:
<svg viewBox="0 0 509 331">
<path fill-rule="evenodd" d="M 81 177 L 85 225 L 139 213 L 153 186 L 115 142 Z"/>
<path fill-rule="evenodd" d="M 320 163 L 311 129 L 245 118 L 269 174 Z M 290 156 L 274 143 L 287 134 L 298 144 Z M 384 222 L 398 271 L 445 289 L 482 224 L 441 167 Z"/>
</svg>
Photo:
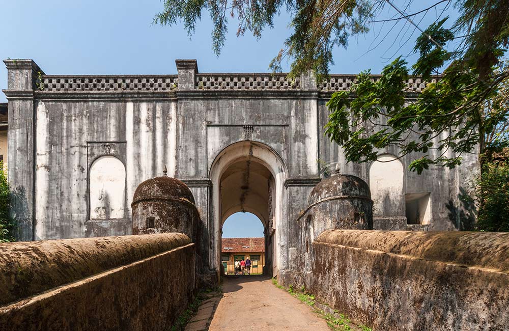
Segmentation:
<svg viewBox="0 0 509 331">
<path fill-rule="evenodd" d="M 304 286 L 302 286 L 300 288 L 301 292 L 297 293 L 297 292 L 295 292 L 293 285 L 290 285 L 287 289 L 284 286 L 279 285 L 277 283 L 277 279 L 275 279 L 275 278 L 272 278 L 272 284 L 274 284 L 279 289 L 286 290 L 288 293 L 290 293 L 291 295 L 293 295 L 300 301 L 304 302 L 304 304 L 312 307 L 313 311 L 315 313 L 317 313 L 320 317 L 325 319 L 327 321 L 327 325 L 329 325 L 329 327 L 331 329 L 333 329 L 334 331 L 340 331 L 340 330 L 341 331 L 350 331 L 350 330 L 372 331 L 371 327 L 367 327 L 362 324 L 355 325 L 354 323 L 352 323 L 352 321 L 350 321 L 350 319 L 345 314 L 341 314 L 338 311 L 334 311 L 334 314 L 329 314 L 329 313 L 324 312 L 321 309 L 315 309 L 315 307 L 314 307 L 315 303 L 316 303 L 315 296 L 313 294 L 307 293 L 305 291 Z M 324 305 L 324 306 L 327 306 L 327 305 Z"/>
</svg>

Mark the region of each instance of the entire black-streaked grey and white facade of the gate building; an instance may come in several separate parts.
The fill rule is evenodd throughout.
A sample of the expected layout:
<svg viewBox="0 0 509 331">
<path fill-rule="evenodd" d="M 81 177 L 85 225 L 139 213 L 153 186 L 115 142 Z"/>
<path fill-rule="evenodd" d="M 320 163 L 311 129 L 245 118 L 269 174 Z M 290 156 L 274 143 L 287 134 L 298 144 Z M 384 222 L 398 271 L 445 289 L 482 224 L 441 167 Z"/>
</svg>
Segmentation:
<svg viewBox="0 0 509 331">
<path fill-rule="evenodd" d="M 135 188 L 160 176 L 166 166 L 168 176 L 183 180 L 193 192 L 202 251 L 211 252 L 204 259 L 217 270 L 220 256 L 214 247 L 220 223 L 215 210 L 220 206 L 213 187 L 219 182 L 210 178 L 212 163 L 228 146 L 250 141 L 263 144 L 285 164 L 284 187 L 274 206 L 280 217 L 274 248 L 281 255 L 278 268 L 288 268 L 301 230 L 294 220 L 322 175 L 317 159 L 331 169 L 338 163 L 342 173 L 369 183 L 371 165 L 347 163 L 341 148 L 323 134 L 326 101 L 332 92 L 348 89 L 352 77 L 332 75 L 327 84 L 317 84 L 306 75 L 291 81 L 284 74 L 202 74 L 190 60 L 177 61 L 178 76 L 51 76 L 32 60 L 5 63 L 9 181 L 23 240 L 131 234 Z M 425 85 L 413 78 L 408 84 L 416 91 Z M 246 125 L 252 129 L 249 134 Z M 101 156 L 115 156 L 125 166 L 123 218 L 91 213 L 90 169 Z M 403 194 L 429 192 L 432 211 L 429 225 L 414 228 L 458 228 L 458 195 L 478 169 L 476 158 L 465 156 L 454 170 L 435 168 L 416 175 L 406 170 L 416 156 L 401 159 Z M 401 195 L 390 198 L 401 203 Z M 405 212 L 398 213 L 396 218 L 379 215 L 386 220 L 380 228 L 406 229 Z"/>
</svg>

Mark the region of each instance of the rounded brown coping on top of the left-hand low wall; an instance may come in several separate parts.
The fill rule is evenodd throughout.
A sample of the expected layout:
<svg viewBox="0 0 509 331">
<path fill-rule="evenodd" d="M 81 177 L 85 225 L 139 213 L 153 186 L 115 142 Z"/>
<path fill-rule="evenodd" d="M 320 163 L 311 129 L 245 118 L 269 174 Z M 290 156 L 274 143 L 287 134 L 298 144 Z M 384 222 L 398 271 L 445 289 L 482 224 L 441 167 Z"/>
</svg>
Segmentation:
<svg viewBox="0 0 509 331">
<path fill-rule="evenodd" d="M 190 244 L 182 233 L 0 244 L 0 305 Z"/>
</svg>

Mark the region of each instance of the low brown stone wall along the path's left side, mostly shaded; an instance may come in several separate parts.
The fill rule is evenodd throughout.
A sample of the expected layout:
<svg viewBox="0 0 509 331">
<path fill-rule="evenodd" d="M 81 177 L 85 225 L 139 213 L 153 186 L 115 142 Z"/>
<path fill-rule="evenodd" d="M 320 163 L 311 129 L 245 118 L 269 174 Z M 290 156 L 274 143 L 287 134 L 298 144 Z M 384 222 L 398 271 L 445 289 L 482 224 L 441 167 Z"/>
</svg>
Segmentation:
<svg viewBox="0 0 509 331">
<path fill-rule="evenodd" d="M 166 330 L 192 300 L 180 233 L 0 244 L 0 330 Z"/>
</svg>

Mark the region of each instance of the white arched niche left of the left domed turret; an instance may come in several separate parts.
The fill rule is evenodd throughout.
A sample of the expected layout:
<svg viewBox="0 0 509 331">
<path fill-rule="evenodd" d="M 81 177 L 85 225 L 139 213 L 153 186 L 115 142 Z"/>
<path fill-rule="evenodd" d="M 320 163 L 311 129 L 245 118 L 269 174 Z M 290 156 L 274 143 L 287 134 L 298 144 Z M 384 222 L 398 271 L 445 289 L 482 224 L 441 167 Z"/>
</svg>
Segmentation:
<svg viewBox="0 0 509 331">
<path fill-rule="evenodd" d="M 115 156 L 98 157 L 89 170 L 90 219 L 125 218 L 126 170 Z"/>
</svg>

